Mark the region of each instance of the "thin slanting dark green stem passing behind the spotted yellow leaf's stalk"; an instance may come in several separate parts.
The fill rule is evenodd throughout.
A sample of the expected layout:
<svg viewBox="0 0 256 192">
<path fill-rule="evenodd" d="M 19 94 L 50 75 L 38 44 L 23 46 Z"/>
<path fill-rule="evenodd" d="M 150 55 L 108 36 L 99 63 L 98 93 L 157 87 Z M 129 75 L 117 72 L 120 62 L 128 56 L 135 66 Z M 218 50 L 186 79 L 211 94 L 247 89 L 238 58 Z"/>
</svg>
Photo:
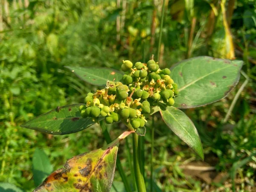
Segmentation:
<svg viewBox="0 0 256 192">
<path fill-rule="evenodd" d="M 103 135 L 105 137 L 106 142 L 108 144 L 111 143 L 112 140 L 111 140 L 111 137 L 110 137 L 110 135 L 108 133 L 108 129 L 107 129 L 107 126 L 106 126 L 105 122 L 104 121 L 100 121 L 99 123 L 101 125 L 102 133 L 103 133 Z M 119 156 L 116 157 L 116 168 L 117 168 L 117 170 L 119 172 L 119 175 L 122 178 L 122 181 L 123 181 L 123 183 L 125 185 L 125 190 L 127 192 L 131 192 L 131 186 L 128 183 L 128 180 L 127 180 L 127 177 L 125 175 L 124 169 L 122 168 L 122 164 L 121 164 Z"/>
</svg>

